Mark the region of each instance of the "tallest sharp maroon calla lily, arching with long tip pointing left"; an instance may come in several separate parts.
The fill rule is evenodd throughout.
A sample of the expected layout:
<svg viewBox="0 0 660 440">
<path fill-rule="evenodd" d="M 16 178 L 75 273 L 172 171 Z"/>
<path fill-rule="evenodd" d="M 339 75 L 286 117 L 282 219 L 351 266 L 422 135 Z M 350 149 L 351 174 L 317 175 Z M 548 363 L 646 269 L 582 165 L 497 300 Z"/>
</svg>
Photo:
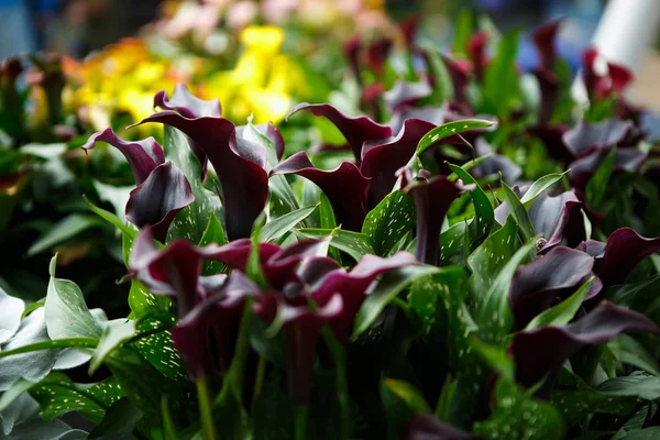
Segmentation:
<svg viewBox="0 0 660 440">
<path fill-rule="evenodd" d="M 188 118 L 177 111 L 165 110 L 140 123 L 145 122 L 164 123 L 183 131 L 195 148 L 204 152 L 222 187 L 228 238 L 250 237 L 252 224 L 264 209 L 268 196 L 265 148 L 237 135 L 235 125 L 224 118 Z"/>
</svg>

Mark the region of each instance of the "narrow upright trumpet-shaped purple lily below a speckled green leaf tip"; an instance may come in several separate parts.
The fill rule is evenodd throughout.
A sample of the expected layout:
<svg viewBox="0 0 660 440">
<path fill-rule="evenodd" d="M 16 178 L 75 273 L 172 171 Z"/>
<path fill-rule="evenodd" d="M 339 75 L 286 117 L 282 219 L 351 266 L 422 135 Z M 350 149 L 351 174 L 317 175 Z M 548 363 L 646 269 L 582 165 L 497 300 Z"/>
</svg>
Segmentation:
<svg viewBox="0 0 660 440">
<path fill-rule="evenodd" d="M 446 176 L 429 178 L 428 173 L 413 177 L 409 168 L 399 170 L 402 188 L 415 200 L 417 216 L 415 256 L 422 263 L 440 265 L 440 230 L 450 205 L 470 189 Z"/>
</svg>

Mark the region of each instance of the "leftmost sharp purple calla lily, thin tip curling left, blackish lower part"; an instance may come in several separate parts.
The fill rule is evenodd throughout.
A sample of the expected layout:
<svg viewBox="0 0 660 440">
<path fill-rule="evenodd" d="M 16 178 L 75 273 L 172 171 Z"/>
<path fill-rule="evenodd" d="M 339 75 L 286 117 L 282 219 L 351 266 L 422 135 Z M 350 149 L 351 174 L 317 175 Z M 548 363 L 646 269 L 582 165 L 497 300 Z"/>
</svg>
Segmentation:
<svg viewBox="0 0 660 440">
<path fill-rule="evenodd" d="M 97 142 L 117 147 L 133 172 L 138 187 L 129 196 L 127 219 L 140 229 L 151 227 L 155 238 L 164 242 L 176 215 L 195 201 L 184 173 L 165 162 L 163 148 L 153 138 L 127 142 L 107 129 L 92 134 L 82 148 L 89 151 Z"/>
</svg>

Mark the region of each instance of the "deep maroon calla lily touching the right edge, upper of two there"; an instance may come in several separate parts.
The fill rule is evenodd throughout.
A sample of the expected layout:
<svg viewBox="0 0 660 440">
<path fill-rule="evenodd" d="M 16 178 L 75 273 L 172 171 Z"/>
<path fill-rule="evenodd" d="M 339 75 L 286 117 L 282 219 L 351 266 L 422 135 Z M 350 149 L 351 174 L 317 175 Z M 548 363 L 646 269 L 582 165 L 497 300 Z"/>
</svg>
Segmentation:
<svg viewBox="0 0 660 440">
<path fill-rule="evenodd" d="M 660 237 L 647 239 L 630 228 L 620 228 L 607 238 L 607 243 L 594 240 L 579 249 L 596 258 L 595 273 L 605 286 L 622 284 L 646 257 L 660 252 Z"/>
</svg>

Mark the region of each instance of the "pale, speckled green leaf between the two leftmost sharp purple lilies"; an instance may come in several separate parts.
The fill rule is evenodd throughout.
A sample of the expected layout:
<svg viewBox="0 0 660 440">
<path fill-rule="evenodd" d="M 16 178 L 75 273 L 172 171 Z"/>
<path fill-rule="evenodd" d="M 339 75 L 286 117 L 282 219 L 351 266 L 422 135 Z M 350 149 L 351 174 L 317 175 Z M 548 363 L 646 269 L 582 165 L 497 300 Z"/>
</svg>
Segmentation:
<svg viewBox="0 0 660 440">
<path fill-rule="evenodd" d="M 193 196 L 195 196 L 195 201 L 176 215 L 167 232 L 167 241 L 184 238 L 199 243 L 209 223 L 209 217 L 216 215 L 221 218 L 220 198 L 204 187 L 201 165 L 188 146 L 188 140 L 184 133 L 165 125 L 164 136 L 165 157 L 186 175 L 193 189 Z"/>
</svg>

